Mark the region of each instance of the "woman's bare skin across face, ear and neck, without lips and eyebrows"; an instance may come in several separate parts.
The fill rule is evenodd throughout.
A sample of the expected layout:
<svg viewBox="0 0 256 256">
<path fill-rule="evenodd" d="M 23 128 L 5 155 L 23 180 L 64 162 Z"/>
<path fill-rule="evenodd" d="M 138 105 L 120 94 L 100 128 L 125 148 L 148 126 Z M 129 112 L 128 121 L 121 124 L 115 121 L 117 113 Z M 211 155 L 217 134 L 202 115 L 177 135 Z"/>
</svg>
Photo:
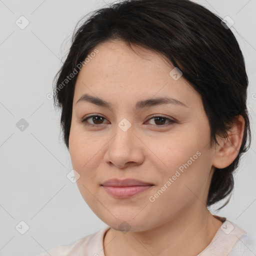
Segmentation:
<svg viewBox="0 0 256 256">
<path fill-rule="evenodd" d="M 174 80 L 170 65 L 158 53 L 122 41 L 106 41 L 77 77 L 69 136 L 77 185 L 93 212 L 111 228 L 103 239 L 104 254 L 196 255 L 212 240 L 222 224 L 206 207 L 214 167 L 228 166 L 238 154 L 244 120 L 238 116 L 228 139 L 209 146 L 210 128 L 199 93 L 181 76 Z M 113 105 L 110 110 L 76 101 L 88 93 Z M 161 104 L 136 110 L 138 100 L 169 96 L 187 107 Z M 86 126 L 88 114 L 99 118 Z M 154 121 L 152 114 L 167 119 Z M 126 131 L 118 123 L 126 118 Z M 169 119 L 176 120 L 169 123 Z M 160 125 L 159 125 L 160 123 Z M 167 125 L 170 124 L 170 125 Z M 149 201 L 175 171 L 196 152 L 201 154 L 165 191 Z M 78 177 L 78 176 L 77 176 Z M 135 178 L 154 184 L 130 198 L 115 198 L 102 182 Z M 130 228 L 122 232 L 123 221 Z M 99 253 L 99 252 L 98 252 Z"/>
</svg>

